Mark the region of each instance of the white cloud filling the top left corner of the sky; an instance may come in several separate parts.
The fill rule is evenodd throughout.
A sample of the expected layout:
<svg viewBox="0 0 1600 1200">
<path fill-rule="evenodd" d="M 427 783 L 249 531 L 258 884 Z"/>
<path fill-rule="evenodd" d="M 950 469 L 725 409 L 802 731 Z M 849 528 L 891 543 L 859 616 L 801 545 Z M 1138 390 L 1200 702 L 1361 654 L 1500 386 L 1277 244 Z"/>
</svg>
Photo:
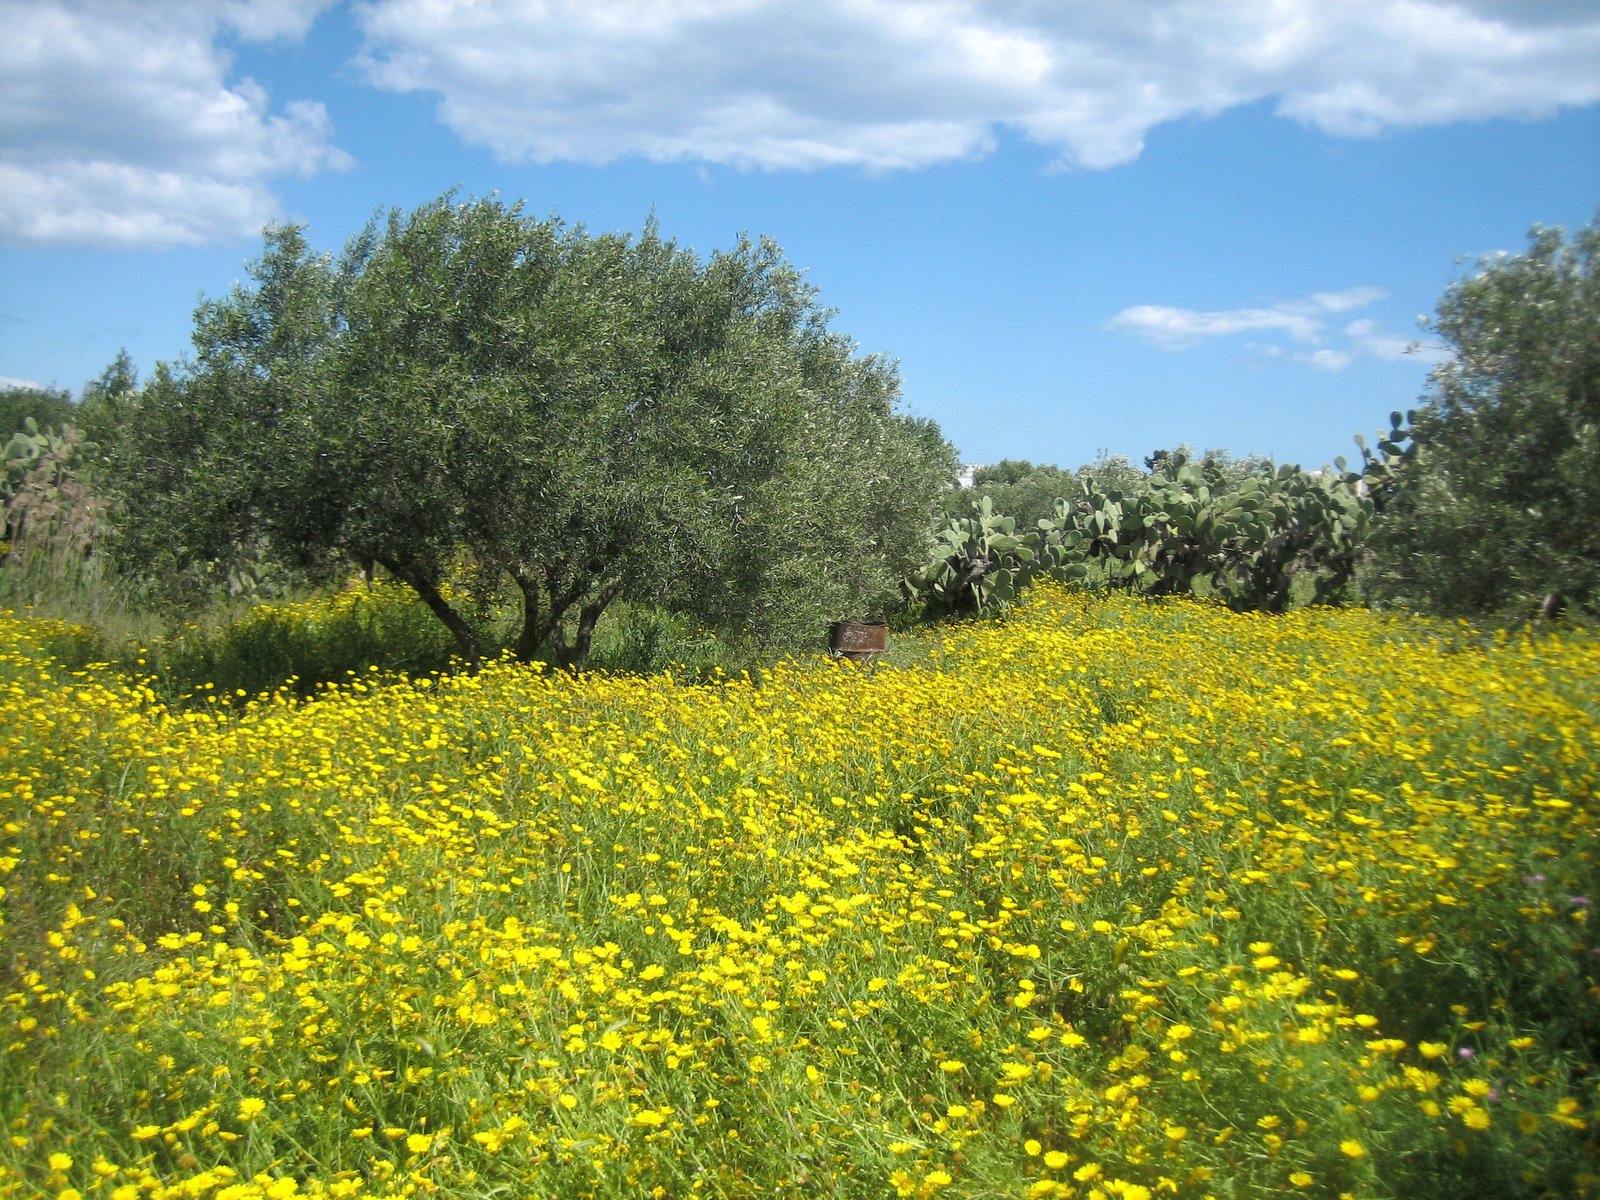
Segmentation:
<svg viewBox="0 0 1600 1200">
<path fill-rule="evenodd" d="M 306 34 L 328 0 L 51 0 L 0 40 L 0 237 L 173 246 L 258 234 L 270 181 L 341 170 L 322 104 L 274 110 L 219 37 Z"/>
</svg>

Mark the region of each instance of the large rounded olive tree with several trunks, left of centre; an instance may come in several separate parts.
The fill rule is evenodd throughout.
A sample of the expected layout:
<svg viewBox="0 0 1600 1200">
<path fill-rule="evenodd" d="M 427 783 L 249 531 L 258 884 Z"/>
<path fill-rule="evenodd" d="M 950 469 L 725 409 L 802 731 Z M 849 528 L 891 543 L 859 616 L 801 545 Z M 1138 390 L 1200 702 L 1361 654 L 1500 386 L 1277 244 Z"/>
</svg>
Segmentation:
<svg viewBox="0 0 1600 1200">
<path fill-rule="evenodd" d="M 269 229 L 251 274 L 125 405 L 122 552 L 378 563 L 469 662 L 501 586 L 517 651 L 571 666 L 621 597 L 766 642 L 861 614 L 954 478 L 770 242 L 701 261 L 446 195 L 338 259 Z"/>
</svg>

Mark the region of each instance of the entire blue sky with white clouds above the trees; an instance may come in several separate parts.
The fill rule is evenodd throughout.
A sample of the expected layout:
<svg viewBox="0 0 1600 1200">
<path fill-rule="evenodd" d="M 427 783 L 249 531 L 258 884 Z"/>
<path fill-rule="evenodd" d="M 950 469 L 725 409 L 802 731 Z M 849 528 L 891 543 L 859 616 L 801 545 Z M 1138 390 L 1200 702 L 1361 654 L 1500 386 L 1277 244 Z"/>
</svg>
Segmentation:
<svg viewBox="0 0 1600 1200">
<path fill-rule="evenodd" d="M 1320 466 L 1422 394 L 1451 280 L 1600 211 L 1595 0 L 0 16 L 0 379 L 74 392 L 181 357 L 264 222 L 338 250 L 456 187 L 774 237 L 968 462 Z"/>
</svg>

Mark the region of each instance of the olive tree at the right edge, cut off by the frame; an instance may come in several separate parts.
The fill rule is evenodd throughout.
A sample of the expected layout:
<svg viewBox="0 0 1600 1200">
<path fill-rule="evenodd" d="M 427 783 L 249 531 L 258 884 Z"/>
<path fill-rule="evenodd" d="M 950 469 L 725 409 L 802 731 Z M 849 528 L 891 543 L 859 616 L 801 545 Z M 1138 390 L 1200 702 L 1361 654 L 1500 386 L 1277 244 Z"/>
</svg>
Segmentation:
<svg viewBox="0 0 1600 1200">
<path fill-rule="evenodd" d="M 1600 219 L 1451 285 L 1371 590 L 1445 613 L 1600 600 Z"/>
</svg>

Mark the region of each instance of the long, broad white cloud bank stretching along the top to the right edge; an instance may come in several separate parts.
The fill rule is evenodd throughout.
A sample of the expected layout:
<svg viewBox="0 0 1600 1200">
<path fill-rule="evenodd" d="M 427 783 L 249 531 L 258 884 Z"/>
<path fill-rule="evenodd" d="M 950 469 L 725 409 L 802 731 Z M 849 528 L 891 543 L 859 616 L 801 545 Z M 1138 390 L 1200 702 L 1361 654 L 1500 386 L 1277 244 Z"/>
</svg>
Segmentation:
<svg viewBox="0 0 1600 1200">
<path fill-rule="evenodd" d="M 1552 11 L 1554 10 L 1554 11 Z M 1058 165 L 1275 98 L 1362 136 L 1600 101 L 1600 13 L 1512 0 L 368 0 L 362 69 L 504 162 Z"/>
</svg>

